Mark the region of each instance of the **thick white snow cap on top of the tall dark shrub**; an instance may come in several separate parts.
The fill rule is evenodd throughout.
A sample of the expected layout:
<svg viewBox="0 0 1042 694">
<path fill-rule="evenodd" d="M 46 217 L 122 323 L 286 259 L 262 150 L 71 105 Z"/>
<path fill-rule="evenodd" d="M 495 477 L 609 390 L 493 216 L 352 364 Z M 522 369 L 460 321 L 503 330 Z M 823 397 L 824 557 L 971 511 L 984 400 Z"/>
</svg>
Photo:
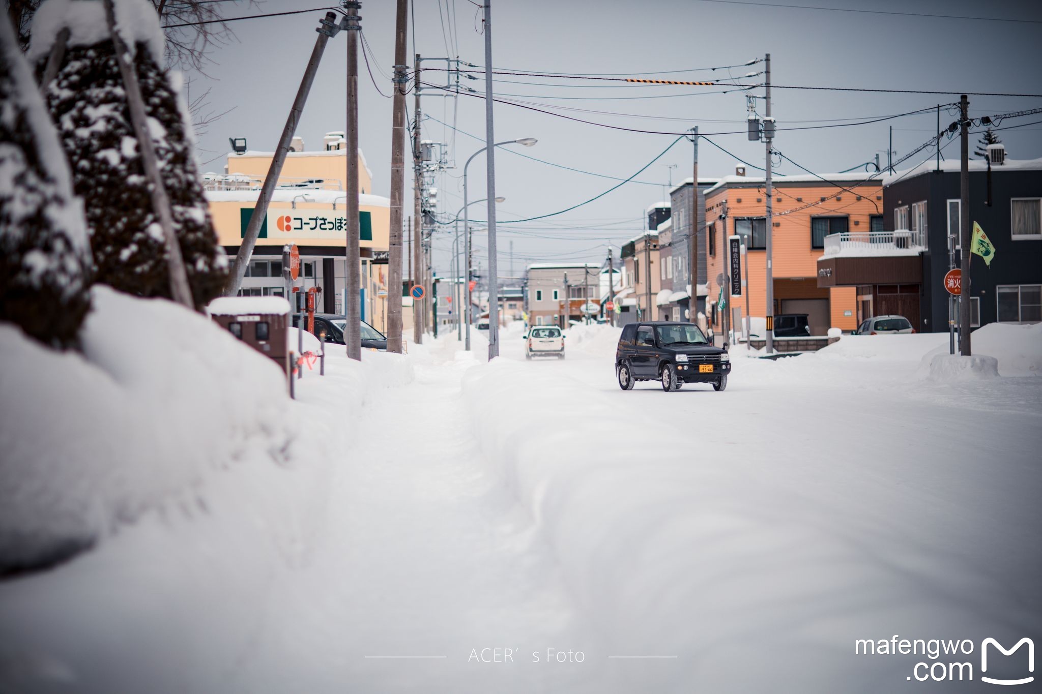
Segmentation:
<svg viewBox="0 0 1042 694">
<path fill-rule="evenodd" d="M 165 65 L 164 36 L 159 16 L 146 0 L 115 0 L 116 25 L 130 46 L 145 44 L 156 65 Z M 93 46 L 108 38 L 105 6 L 82 0 L 47 0 L 32 18 L 29 50 L 26 57 L 36 62 L 48 53 L 61 29 L 69 29 L 69 46 Z"/>
</svg>

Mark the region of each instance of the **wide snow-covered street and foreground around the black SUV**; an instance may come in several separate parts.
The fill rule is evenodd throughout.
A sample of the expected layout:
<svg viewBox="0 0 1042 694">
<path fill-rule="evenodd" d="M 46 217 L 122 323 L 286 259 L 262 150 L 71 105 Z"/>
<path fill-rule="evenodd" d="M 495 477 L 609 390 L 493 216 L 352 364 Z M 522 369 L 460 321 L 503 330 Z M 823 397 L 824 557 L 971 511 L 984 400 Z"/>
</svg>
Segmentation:
<svg viewBox="0 0 1042 694">
<path fill-rule="evenodd" d="M 624 392 L 617 335 L 331 352 L 305 458 L 0 585 L 0 691 L 894 691 L 922 657 L 854 640 L 1037 631 L 1042 379 L 935 383 L 946 336 L 847 337 Z"/>
</svg>

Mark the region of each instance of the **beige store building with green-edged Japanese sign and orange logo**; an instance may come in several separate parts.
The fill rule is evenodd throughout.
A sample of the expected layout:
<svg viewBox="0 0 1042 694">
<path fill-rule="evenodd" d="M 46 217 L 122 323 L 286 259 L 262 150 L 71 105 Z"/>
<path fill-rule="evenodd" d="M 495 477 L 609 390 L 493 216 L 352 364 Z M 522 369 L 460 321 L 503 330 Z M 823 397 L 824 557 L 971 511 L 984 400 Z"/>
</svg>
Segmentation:
<svg viewBox="0 0 1042 694">
<path fill-rule="evenodd" d="M 328 133 L 324 145 L 327 149 L 288 155 L 241 294 L 284 295 L 282 247 L 294 243 L 301 261 L 295 288 L 318 287 L 320 311 L 344 312 L 347 150 L 341 133 Z M 302 149 L 302 143 L 299 146 Z M 273 156 L 272 152 L 229 153 L 223 175 L 203 176 L 218 238 L 229 258 L 239 252 Z M 388 286 L 390 201 L 372 195 L 372 173 L 361 151 L 357 156 L 363 318 L 384 331 L 388 297 L 401 295 L 400 287 Z"/>
</svg>

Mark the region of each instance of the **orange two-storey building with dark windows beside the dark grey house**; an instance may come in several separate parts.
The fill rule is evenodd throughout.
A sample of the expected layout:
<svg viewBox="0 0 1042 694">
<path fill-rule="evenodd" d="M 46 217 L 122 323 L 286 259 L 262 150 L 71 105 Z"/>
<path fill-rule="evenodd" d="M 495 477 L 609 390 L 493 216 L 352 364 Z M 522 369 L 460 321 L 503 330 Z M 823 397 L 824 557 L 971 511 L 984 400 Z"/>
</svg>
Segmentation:
<svg viewBox="0 0 1042 694">
<path fill-rule="evenodd" d="M 822 180 L 822 178 L 826 180 Z M 878 180 L 865 181 L 865 174 L 776 176 L 772 179 L 773 314 L 805 313 L 812 335 L 825 335 L 829 328 L 858 327 L 855 287 L 818 287 L 817 259 L 824 251 L 824 237 L 844 231 L 883 230 L 883 188 Z M 837 195 L 838 194 L 838 195 Z M 767 315 L 765 278 L 767 267 L 766 200 L 763 178 L 726 176 L 705 192 L 704 238 L 708 250 L 706 278 L 710 291 L 706 313 L 721 328 L 716 310 L 720 295 L 719 276 L 728 272 L 727 236 L 743 237 L 748 263 L 748 315 Z M 731 316 L 746 315 L 746 298 L 729 300 Z M 740 326 L 733 329 L 741 330 Z M 751 330 L 758 334 L 755 327 Z"/>
</svg>

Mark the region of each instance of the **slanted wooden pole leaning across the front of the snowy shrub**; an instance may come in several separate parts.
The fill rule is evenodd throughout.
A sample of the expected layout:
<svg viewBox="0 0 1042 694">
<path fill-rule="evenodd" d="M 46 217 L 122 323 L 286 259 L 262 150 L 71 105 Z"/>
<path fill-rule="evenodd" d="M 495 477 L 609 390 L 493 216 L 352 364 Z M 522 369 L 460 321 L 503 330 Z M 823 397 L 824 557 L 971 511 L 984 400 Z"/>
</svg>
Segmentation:
<svg viewBox="0 0 1042 694">
<path fill-rule="evenodd" d="M 116 61 L 120 66 L 120 76 L 123 78 L 127 105 L 130 108 L 130 123 L 133 125 L 134 135 L 138 137 L 138 147 L 141 149 L 141 159 L 145 168 L 145 178 L 149 184 L 152 211 L 159 217 L 159 227 L 163 229 L 163 240 L 167 249 L 167 272 L 170 274 L 170 294 L 178 304 L 194 309 L 195 302 L 192 300 L 192 288 L 189 286 L 189 277 L 184 269 L 184 258 L 181 256 L 181 247 L 174 234 L 174 217 L 170 211 L 170 198 L 167 196 L 167 186 L 159 173 L 159 161 L 155 156 L 152 135 L 148 130 L 145 100 L 141 95 L 138 73 L 130 61 L 133 52 L 123 41 L 119 27 L 116 25 L 116 9 L 113 6 L 113 0 L 104 0 L 104 4 L 105 20 L 108 22 L 108 31 L 111 34 L 113 48 L 116 51 Z"/>
</svg>

